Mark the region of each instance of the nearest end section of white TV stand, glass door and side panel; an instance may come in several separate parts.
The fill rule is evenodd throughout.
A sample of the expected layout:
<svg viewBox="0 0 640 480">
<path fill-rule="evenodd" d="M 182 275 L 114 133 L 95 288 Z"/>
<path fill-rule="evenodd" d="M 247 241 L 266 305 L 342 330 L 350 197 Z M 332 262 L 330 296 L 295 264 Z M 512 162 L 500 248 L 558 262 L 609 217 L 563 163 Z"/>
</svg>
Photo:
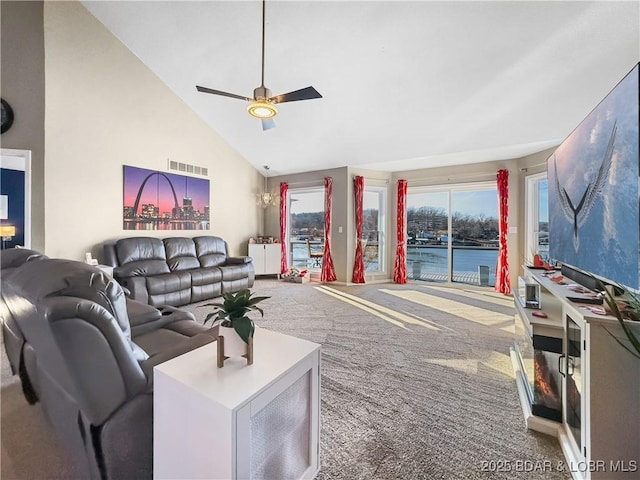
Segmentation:
<svg viewBox="0 0 640 480">
<path fill-rule="evenodd" d="M 640 360 L 612 317 L 595 317 L 566 303 L 564 434 L 574 478 L 640 477 Z M 632 328 L 638 328 L 634 325 Z M 637 329 L 640 332 L 640 329 Z"/>
</svg>

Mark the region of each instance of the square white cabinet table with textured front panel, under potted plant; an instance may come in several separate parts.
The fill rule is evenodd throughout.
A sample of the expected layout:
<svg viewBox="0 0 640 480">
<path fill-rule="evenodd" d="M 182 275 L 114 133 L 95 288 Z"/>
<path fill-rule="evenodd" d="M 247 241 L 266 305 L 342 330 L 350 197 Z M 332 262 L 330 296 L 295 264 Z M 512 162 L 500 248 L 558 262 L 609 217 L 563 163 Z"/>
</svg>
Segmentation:
<svg viewBox="0 0 640 480">
<path fill-rule="evenodd" d="M 154 478 L 312 479 L 319 469 L 320 345 L 263 328 L 253 365 L 216 343 L 154 369 Z"/>
</svg>

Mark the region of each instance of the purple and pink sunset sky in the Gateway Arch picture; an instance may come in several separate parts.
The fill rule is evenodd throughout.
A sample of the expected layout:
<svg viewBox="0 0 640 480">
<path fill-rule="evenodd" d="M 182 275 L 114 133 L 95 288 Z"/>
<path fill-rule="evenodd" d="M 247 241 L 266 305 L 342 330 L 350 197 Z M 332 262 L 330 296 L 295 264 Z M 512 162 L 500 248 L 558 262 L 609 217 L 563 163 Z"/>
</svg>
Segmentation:
<svg viewBox="0 0 640 480">
<path fill-rule="evenodd" d="M 145 203 L 153 203 L 160 207 L 161 215 L 165 212 L 171 213 L 171 209 L 174 207 L 174 198 L 169 182 L 164 178 L 166 176 L 173 184 L 179 206 L 182 206 L 184 197 L 190 197 L 193 201 L 193 208 L 204 212 L 204 207 L 209 205 L 209 180 L 127 165 L 124 166 L 124 206 L 133 206 L 144 179 L 156 172 L 159 175 L 153 175 L 149 178 L 142 190 L 140 206 Z"/>
</svg>

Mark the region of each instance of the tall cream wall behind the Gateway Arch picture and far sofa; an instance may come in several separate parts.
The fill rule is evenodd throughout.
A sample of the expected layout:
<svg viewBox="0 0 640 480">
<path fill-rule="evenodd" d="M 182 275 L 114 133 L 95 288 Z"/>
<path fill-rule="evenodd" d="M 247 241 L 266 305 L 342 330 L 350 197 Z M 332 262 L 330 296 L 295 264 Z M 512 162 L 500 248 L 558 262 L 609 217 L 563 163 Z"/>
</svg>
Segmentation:
<svg viewBox="0 0 640 480">
<path fill-rule="evenodd" d="M 80 3 L 46 2 L 45 253 L 82 259 L 141 235 L 122 228 L 122 166 L 167 171 L 167 159 L 209 168 L 211 230 L 246 254 L 262 226 L 262 176 Z"/>
</svg>

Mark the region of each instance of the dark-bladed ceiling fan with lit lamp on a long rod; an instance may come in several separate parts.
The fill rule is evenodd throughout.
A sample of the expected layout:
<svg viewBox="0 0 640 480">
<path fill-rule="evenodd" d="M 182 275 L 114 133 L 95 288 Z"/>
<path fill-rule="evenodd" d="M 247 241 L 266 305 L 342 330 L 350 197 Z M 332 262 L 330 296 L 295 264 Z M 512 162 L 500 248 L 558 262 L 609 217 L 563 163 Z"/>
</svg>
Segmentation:
<svg viewBox="0 0 640 480">
<path fill-rule="evenodd" d="M 264 86 L 264 19 L 265 19 L 265 3 L 266 0 L 262 0 L 262 82 L 260 86 L 254 89 L 253 98 L 245 97 L 243 95 L 236 95 L 235 93 L 223 92 L 220 90 L 214 90 L 212 88 L 201 87 L 196 85 L 196 89 L 202 93 L 212 93 L 214 95 L 222 95 L 223 97 L 237 98 L 239 100 L 246 100 L 249 103 L 247 106 L 247 112 L 249 115 L 262 120 L 262 130 L 269 130 L 275 128 L 276 123 L 273 120 L 278 114 L 276 104 L 285 102 L 297 102 L 298 100 L 312 100 L 314 98 L 322 98 L 322 95 L 313 87 L 306 87 L 300 90 L 295 90 L 289 93 L 282 93 L 280 95 L 272 95 L 271 90 Z"/>
</svg>

